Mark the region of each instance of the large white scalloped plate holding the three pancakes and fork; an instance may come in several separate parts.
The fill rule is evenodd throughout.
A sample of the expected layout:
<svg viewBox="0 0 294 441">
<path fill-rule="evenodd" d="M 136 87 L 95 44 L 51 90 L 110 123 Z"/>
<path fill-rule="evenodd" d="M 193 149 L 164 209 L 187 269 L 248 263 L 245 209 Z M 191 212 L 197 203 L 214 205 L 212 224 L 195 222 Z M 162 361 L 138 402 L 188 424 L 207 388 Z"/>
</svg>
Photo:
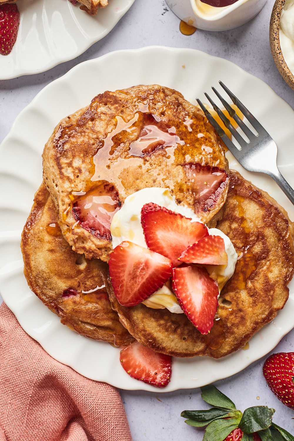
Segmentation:
<svg viewBox="0 0 294 441">
<path fill-rule="evenodd" d="M 118 67 L 119 66 L 119 75 Z M 56 124 L 66 115 L 89 104 L 104 90 L 136 84 L 159 83 L 182 92 L 195 103 L 203 92 L 222 80 L 253 112 L 278 145 L 278 165 L 294 186 L 294 111 L 260 79 L 235 64 L 193 49 L 149 47 L 112 52 L 74 67 L 46 86 L 17 117 L 0 146 L 0 292 L 23 329 L 56 360 L 85 377 L 106 381 L 122 389 L 167 392 L 194 388 L 233 375 L 271 351 L 294 327 L 294 283 L 290 298 L 275 320 L 264 326 L 249 342 L 223 359 L 209 357 L 173 359 L 171 382 L 155 389 L 129 377 L 119 363 L 119 349 L 80 336 L 60 324 L 30 291 L 23 276 L 20 233 L 30 213 L 33 194 L 41 184 L 43 146 Z M 78 88 L 77 84 L 83 84 Z M 218 86 L 217 86 L 218 87 Z M 220 89 L 220 87 L 218 87 Z M 247 172 L 227 155 L 231 168 L 268 191 L 294 219 L 294 206 L 279 187 L 265 175 Z"/>
</svg>

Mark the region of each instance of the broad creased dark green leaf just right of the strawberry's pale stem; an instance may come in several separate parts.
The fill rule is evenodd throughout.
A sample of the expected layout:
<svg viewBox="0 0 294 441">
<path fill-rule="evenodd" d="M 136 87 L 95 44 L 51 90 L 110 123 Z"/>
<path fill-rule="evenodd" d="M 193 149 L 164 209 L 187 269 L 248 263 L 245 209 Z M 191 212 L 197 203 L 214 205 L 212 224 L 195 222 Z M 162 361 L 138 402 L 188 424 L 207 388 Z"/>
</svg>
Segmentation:
<svg viewBox="0 0 294 441">
<path fill-rule="evenodd" d="M 244 411 L 238 427 L 246 434 L 268 429 L 272 424 L 272 415 L 274 413 L 275 409 L 268 408 L 268 406 L 249 407 Z"/>
</svg>

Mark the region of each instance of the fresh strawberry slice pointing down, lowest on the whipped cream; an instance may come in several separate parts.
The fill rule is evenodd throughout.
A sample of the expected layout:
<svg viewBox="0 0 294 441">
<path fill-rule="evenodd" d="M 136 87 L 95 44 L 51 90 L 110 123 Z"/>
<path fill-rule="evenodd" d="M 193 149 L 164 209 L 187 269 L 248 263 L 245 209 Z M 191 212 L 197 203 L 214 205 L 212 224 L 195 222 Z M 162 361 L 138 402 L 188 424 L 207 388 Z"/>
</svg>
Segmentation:
<svg viewBox="0 0 294 441">
<path fill-rule="evenodd" d="M 189 320 L 201 334 L 207 334 L 216 315 L 217 282 L 205 268 L 184 266 L 172 270 L 172 288 Z"/>
</svg>

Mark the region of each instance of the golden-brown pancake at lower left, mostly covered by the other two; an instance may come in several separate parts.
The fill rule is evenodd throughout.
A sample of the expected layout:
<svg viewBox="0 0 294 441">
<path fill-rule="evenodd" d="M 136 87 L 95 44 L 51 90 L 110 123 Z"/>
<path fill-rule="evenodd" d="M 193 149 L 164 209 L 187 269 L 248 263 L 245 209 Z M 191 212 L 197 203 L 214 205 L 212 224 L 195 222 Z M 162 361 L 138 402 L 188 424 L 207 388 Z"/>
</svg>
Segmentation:
<svg viewBox="0 0 294 441">
<path fill-rule="evenodd" d="M 57 228 L 50 224 L 56 224 Z M 119 322 L 103 288 L 107 284 L 108 265 L 74 253 L 63 239 L 55 206 L 44 184 L 35 194 L 22 232 L 21 248 L 24 274 L 31 290 L 60 316 L 63 325 L 115 346 L 134 341 Z M 95 291 L 97 287 L 102 288 Z M 90 290 L 93 292 L 82 292 Z"/>
</svg>

